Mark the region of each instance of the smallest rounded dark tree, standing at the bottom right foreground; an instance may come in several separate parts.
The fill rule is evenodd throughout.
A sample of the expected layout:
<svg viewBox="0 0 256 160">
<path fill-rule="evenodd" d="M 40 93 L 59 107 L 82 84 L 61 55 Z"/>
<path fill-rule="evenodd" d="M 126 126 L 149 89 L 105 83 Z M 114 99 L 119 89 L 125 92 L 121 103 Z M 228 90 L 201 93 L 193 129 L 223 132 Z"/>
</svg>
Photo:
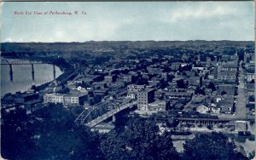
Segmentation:
<svg viewBox="0 0 256 160">
<path fill-rule="evenodd" d="M 229 141 L 228 137 L 221 133 L 196 134 L 195 139 L 187 140 L 183 145 L 184 159 L 193 160 L 213 160 L 213 159 L 247 159 L 241 157 L 235 151 L 234 141 Z"/>
</svg>

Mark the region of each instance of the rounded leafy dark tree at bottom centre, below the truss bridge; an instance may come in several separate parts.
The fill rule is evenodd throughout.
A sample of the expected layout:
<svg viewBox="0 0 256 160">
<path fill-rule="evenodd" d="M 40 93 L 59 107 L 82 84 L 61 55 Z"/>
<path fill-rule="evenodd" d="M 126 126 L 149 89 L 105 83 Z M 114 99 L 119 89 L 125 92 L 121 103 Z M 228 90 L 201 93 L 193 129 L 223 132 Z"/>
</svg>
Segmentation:
<svg viewBox="0 0 256 160">
<path fill-rule="evenodd" d="M 122 132 L 114 131 L 102 140 L 106 159 L 179 159 L 170 133 L 158 134 L 154 121 L 130 119 Z"/>
</svg>

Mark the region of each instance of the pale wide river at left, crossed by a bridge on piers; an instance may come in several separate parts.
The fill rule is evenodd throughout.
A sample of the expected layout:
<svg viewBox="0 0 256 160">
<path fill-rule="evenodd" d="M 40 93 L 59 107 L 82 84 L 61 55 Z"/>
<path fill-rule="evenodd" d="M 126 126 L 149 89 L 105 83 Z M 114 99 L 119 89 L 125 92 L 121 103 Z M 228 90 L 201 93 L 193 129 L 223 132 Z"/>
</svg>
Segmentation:
<svg viewBox="0 0 256 160">
<path fill-rule="evenodd" d="M 3 58 L 1 58 L 3 60 Z M 9 62 L 13 59 L 5 59 Z M 9 75 L 9 65 L 1 65 L 1 96 L 18 91 L 26 91 L 32 85 L 41 85 L 54 80 L 54 66 L 50 64 L 34 64 L 34 80 L 32 79 L 31 65 L 12 65 L 13 81 Z M 55 77 L 59 77 L 62 71 L 55 66 Z"/>
</svg>

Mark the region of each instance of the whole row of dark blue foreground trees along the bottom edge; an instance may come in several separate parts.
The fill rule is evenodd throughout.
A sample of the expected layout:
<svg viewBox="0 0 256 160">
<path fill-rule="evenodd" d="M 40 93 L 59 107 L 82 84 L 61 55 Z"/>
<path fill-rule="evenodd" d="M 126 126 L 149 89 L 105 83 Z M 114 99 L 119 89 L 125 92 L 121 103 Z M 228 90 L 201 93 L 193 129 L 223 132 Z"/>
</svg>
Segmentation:
<svg viewBox="0 0 256 160">
<path fill-rule="evenodd" d="M 77 111 L 79 110 L 79 111 Z M 25 110 L 3 113 L 1 156 L 5 159 L 247 159 L 224 134 L 197 134 L 179 154 L 172 132 L 160 133 L 154 120 L 119 117 L 108 134 L 90 132 L 74 123 L 83 108 L 50 104 L 27 116 Z"/>
</svg>

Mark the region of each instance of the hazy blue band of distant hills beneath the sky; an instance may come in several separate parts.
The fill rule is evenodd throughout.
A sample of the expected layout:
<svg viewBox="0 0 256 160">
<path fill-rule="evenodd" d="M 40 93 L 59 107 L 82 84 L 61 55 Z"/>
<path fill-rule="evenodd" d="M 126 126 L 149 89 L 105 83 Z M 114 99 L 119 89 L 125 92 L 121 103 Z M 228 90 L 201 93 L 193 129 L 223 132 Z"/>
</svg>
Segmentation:
<svg viewBox="0 0 256 160">
<path fill-rule="evenodd" d="M 158 48 L 225 48 L 225 47 L 252 47 L 253 41 L 90 41 L 84 43 L 1 43 L 1 51 L 16 52 L 24 49 L 70 51 L 84 49 L 158 49 Z"/>
</svg>

